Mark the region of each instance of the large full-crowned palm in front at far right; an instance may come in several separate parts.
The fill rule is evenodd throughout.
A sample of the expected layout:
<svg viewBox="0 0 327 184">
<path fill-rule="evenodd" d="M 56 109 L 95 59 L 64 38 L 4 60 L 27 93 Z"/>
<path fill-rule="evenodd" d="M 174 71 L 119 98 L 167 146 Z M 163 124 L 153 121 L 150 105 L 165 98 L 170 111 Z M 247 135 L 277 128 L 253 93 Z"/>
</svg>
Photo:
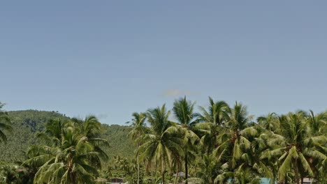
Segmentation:
<svg viewBox="0 0 327 184">
<path fill-rule="evenodd" d="M 306 124 L 305 112 L 289 113 L 279 118 L 280 135 L 270 140 L 275 149 L 270 151 L 270 155 L 279 157 L 281 165 L 279 167 L 279 177 L 284 176 L 294 169 L 295 181 L 300 183 L 303 175 L 314 176 L 312 160 L 326 160 L 326 154 L 321 153 L 317 147 L 327 150 L 326 136 L 310 135 Z"/>
</svg>

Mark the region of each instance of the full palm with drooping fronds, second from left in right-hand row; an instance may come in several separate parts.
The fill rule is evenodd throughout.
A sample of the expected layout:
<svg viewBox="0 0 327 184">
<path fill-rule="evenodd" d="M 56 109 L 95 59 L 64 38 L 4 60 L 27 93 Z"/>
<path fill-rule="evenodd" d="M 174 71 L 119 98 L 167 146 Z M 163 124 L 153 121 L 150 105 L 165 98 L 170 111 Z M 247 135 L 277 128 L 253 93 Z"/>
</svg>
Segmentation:
<svg viewBox="0 0 327 184">
<path fill-rule="evenodd" d="M 147 121 L 151 125 L 151 132 L 145 135 L 144 143 L 140 146 L 142 158 L 147 158 L 161 168 L 161 180 L 165 183 L 166 167 L 170 166 L 172 153 L 180 153 L 182 139 L 176 136 L 178 133 L 175 123 L 168 121 L 170 111 L 166 106 L 149 109 L 147 111 Z"/>
</svg>

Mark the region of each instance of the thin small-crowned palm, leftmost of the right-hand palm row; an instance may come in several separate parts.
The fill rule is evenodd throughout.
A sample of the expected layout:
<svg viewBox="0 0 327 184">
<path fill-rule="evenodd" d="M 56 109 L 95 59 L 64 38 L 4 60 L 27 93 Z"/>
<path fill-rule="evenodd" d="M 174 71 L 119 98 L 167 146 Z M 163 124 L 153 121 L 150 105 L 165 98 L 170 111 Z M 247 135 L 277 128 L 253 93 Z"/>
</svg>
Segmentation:
<svg viewBox="0 0 327 184">
<path fill-rule="evenodd" d="M 129 132 L 128 136 L 131 137 L 136 144 L 138 145 L 138 148 L 140 148 L 140 144 L 142 143 L 142 136 L 145 135 L 145 132 L 147 132 L 147 128 L 145 126 L 145 120 L 147 118 L 147 114 L 145 113 L 137 113 L 134 112 L 132 114 L 133 119 L 131 121 L 131 125 L 133 129 L 131 132 Z M 130 123 L 130 122 L 128 122 Z M 136 152 L 136 162 L 138 164 L 138 184 L 140 183 L 140 163 L 138 159 L 138 152 Z"/>
</svg>

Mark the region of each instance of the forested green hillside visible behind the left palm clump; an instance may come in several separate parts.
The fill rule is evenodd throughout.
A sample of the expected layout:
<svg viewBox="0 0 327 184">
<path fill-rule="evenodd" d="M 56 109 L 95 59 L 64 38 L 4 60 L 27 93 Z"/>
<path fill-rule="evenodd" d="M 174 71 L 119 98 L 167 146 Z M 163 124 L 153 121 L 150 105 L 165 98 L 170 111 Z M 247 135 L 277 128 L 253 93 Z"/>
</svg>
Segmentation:
<svg viewBox="0 0 327 184">
<path fill-rule="evenodd" d="M 52 118 L 60 118 L 63 121 L 69 119 L 58 112 L 45 112 L 37 110 L 24 110 L 8 112 L 11 118 L 13 131 L 7 133 L 8 141 L 0 144 L 0 160 L 6 162 L 17 162 L 24 160 L 24 152 L 29 146 L 38 144 L 36 134 L 43 130 L 45 123 Z M 133 155 L 133 142 L 127 138 L 128 126 L 103 124 L 103 138 L 107 139 L 110 147 L 106 148 L 109 158 L 113 155 L 131 157 Z"/>
</svg>

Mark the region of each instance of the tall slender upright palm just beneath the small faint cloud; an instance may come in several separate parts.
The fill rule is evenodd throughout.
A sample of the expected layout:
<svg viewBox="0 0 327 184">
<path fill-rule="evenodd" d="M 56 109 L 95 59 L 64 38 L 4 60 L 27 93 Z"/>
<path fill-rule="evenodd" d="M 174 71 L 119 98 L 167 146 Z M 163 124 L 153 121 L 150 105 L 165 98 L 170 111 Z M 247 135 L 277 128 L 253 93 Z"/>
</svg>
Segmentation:
<svg viewBox="0 0 327 184">
<path fill-rule="evenodd" d="M 196 121 L 196 114 L 194 114 L 194 103 L 187 101 L 186 96 L 175 100 L 173 105 L 173 112 L 177 123 L 179 123 L 182 131 L 183 149 L 184 149 L 184 169 L 185 169 L 185 183 L 188 178 L 188 162 L 189 152 L 194 151 L 194 143 L 198 141 L 198 135 L 194 132 Z"/>
</svg>

